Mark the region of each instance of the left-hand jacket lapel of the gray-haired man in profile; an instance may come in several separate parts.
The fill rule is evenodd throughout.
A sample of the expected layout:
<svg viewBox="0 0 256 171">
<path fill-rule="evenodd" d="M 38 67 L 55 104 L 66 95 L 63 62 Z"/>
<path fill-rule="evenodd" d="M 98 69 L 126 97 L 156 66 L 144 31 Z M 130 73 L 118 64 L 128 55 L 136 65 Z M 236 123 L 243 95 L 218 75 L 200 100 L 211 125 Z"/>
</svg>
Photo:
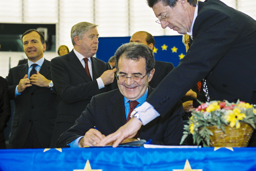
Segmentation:
<svg viewBox="0 0 256 171">
<path fill-rule="evenodd" d="M 87 82 L 91 81 L 89 76 L 87 75 L 83 65 L 79 61 L 78 57 L 74 53 L 74 50 L 72 50 L 68 55 L 67 59 L 69 62 L 69 65 L 78 72 L 79 75 L 81 75 L 82 78 L 84 78 Z"/>
</svg>

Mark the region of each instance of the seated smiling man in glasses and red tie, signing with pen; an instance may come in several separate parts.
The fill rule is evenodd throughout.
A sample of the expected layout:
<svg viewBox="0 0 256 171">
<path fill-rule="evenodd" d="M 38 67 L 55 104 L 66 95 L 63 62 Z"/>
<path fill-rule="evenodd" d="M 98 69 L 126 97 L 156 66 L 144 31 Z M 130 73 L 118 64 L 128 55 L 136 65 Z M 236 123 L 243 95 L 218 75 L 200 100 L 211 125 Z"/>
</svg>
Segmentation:
<svg viewBox="0 0 256 171">
<path fill-rule="evenodd" d="M 153 89 L 148 83 L 155 72 L 152 49 L 139 43 L 123 44 L 115 53 L 115 66 L 118 89 L 94 96 L 75 125 L 61 135 L 60 147 L 96 146 L 105 135 L 129 121 L 132 110 L 151 94 Z M 179 102 L 164 118 L 141 127 L 138 137 L 152 139 L 153 144 L 179 145 L 183 132 L 181 113 Z"/>
</svg>

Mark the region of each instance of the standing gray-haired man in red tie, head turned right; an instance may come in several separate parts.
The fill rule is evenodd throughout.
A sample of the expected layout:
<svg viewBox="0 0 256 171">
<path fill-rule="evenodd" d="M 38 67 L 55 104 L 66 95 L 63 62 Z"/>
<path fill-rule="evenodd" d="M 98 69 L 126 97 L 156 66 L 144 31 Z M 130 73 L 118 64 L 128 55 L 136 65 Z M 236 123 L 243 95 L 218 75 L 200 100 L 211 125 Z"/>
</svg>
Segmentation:
<svg viewBox="0 0 256 171">
<path fill-rule="evenodd" d="M 56 118 L 51 147 L 60 135 L 74 125 L 93 96 L 109 91 L 116 69 L 95 57 L 98 31 L 95 24 L 80 22 L 71 28 L 74 49 L 51 61 L 52 77 L 58 93 Z"/>
</svg>

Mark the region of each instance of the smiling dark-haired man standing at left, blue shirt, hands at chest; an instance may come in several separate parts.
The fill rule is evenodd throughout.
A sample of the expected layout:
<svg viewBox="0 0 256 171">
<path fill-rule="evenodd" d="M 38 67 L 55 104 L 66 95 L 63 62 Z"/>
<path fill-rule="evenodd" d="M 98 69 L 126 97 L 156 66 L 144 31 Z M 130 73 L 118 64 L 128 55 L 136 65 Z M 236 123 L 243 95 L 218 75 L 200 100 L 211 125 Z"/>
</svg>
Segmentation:
<svg viewBox="0 0 256 171">
<path fill-rule="evenodd" d="M 10 148 L 49 148 L 57 114 L 50 61 L 44 58 L 44 35 L 34 29 L 22 35 L 28 63 L 9 70 L 6 80 L 14 113 Z"/>
</svg>

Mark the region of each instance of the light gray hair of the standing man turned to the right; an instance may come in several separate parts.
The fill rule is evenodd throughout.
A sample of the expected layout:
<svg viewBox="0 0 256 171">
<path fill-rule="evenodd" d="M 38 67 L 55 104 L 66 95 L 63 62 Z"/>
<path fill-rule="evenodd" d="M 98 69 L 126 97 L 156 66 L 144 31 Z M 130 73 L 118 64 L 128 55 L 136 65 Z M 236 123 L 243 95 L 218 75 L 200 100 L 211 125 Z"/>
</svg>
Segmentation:
<svg viewBox="0 0 256 171">
<path fill-rule="evenodd" d="M 92 24 L 89 22 L 80 22 L 75 24 L 72 28 L 71 28 L 71 40 L 72 40 L 72 44 L 75 45 L 75 41 L 74 41 L 74 37 L 78 36 L 80 39 L 83 37 L 84 33 L 86 33 L 87 31 L 89 31 L 91 28 L 93 27 L 97 27 L 98 25 L 96 24 Z"/>
</svg>

